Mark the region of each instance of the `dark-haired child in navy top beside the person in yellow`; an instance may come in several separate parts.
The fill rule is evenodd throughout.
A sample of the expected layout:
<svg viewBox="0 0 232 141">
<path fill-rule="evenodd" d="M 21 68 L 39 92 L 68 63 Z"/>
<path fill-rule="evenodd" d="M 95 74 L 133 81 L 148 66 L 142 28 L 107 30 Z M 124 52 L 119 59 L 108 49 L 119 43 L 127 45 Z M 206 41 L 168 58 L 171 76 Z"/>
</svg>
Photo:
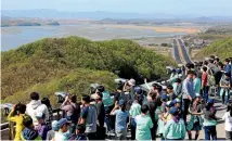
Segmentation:
<svg viewBox="0 0 232 141">
<path fill-rule="evenodd" d="M 33 124 L 33 118 L 30 116 L 26 116 L 23 119 L 23 125 L 25 126 L 24 130 L 22 131 L 21 139 L 23 141 L 28 141 L 28 140 L 37 140 L 41 141 L 42 138 L 39 136 L 38 131 L 35 130 L 34 124 Z"/>
</svg>

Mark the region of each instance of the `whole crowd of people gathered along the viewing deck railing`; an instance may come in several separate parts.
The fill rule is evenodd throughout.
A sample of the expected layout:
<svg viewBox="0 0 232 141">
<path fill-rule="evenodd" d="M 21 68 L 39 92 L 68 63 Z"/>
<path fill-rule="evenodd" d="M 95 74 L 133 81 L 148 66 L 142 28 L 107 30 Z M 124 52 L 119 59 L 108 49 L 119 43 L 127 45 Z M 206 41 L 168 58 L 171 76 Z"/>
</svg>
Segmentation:
<svg viewBox="0 0 232 141">
<path fill-rule="evenodd" d="M 232 59 L 220 62 L 217 56 L 188 63 L 171 69 L 166 87 L 150 86 L 144 79 L 149 91 L 130 79 L 120 81 L 116 92 L 98 86 L 80 102 L 67 94 L 61 104 L 64 116 L 59 120 L 49 99 L 40 100 L 39 93 L 33 92 L 31 101 L 16 104 L 8 119 L 16 123 L 15 140 L 105 140 L 111 133 L 115 140 L 197 140 L 203 129 L 205 140 L 217 140 L 214 103 L 218 97 L 222 106 L 228 106 L 222 119 L 225 138 L 232 140 L 231 63 Z"/>
</svg>

